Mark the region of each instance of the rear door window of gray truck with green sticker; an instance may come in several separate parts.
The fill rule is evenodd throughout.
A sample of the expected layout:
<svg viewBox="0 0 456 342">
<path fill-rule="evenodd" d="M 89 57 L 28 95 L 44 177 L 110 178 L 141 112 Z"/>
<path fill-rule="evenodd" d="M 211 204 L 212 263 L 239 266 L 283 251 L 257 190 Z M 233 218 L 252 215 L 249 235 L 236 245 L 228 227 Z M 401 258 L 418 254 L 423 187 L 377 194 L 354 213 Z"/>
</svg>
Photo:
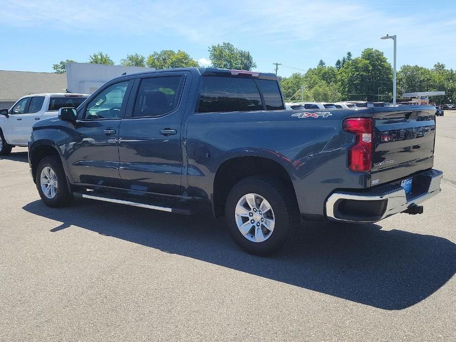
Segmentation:
<svg viewBox="0 0 456 342">
<path fill-rule="evenodd" d="M 162 116 L 171 113 L 177 108 L 182 86 L 182 76 L 142 79 L 133 116 Z"/>
</svg>

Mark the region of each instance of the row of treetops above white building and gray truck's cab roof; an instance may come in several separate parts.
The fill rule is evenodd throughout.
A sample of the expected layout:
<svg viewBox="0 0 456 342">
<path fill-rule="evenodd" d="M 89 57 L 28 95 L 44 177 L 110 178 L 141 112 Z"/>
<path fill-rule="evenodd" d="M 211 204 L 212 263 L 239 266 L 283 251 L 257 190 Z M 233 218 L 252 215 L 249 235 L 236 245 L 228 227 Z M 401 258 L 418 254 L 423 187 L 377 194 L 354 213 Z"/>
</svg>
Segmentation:
<svg viewBox="0 0 456 342">
<path fill-rule="evenodd" d="M 231 43 L 212 45 L 209 47 L 209 57 L 212 67 L 251 70 L 256 67 L 253 58 L 248 51 L 241 50 Z M 75 61 L 67 59 L 54 64 L 52 68 L 56 73 L 67 72 L 67 63 Z M 89 56 L 87 63 L 115 65 L 108 54 L 97 52 Z M 127 55 L 120 60 L 119 65 L 126 67 L 148 67 L 156 69 L 190 68 L 199 67 L 199 63 L 182 50 L 154 51 L 145 57 L 139 53 Z"/>
</svg>

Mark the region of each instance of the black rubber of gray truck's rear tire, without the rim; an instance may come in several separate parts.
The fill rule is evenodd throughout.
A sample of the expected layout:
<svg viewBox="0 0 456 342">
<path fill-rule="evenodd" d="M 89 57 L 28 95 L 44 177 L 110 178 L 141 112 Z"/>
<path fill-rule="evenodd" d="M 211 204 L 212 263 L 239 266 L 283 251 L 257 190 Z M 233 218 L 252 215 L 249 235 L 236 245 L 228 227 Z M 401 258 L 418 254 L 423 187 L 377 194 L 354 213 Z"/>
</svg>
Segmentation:
<svg viewBox="0 0 456 342">
<path fill-rule="evenodd" d="M 274 229 L 262 242 L 247 239 L 247 235 L 240 232 L 236 223 L 236 206 L 249 193 L 267 200 L 274 212 Z M 225 203 L 225 220 L 231 236 L 242 249 L 250 254 L 268 256 L 280 251 L 291 239 L 299 226 L 300 216 L 293 192 L 285 184 L 271 177 L 252 176 L 242 179 L 230 190 Z M 252 229 L 255 229 L 255 225 Z"/>
</svg>

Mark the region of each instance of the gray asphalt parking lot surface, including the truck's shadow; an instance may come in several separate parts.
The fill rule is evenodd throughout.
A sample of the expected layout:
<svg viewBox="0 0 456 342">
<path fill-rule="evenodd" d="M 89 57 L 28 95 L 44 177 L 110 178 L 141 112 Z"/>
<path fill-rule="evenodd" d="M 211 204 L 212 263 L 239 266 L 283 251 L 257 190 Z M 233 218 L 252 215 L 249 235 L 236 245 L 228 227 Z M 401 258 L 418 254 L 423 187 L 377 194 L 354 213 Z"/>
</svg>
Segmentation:
<svg viewBox="0 0 456 342">
<path fill-rule="evenodd" d="M 221 221 L 40 200 L 0 159 L 1 341 L 455 341 L 456 112 L 437 118 L 442 193 L 424 214 L 307 223 L 245 254 Z"/>
</svg>

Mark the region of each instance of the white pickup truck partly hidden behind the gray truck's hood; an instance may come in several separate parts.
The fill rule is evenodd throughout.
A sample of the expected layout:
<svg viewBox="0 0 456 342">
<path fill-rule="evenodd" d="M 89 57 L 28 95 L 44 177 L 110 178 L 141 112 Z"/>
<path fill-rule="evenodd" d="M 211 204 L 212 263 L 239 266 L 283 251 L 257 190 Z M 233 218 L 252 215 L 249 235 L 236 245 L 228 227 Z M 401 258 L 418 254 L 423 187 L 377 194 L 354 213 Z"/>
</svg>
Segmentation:
<svg viewBox="0 0 456 342">
<path fill-rule="evenodd" d="M 20 98 L 10 109 L 0 109 L 0 156 L 14 146 L 27 146 L 38 120 L 57 116 L 62 107 L 77 107 L 87 94 L 33 94 Z"/>
</svg>

